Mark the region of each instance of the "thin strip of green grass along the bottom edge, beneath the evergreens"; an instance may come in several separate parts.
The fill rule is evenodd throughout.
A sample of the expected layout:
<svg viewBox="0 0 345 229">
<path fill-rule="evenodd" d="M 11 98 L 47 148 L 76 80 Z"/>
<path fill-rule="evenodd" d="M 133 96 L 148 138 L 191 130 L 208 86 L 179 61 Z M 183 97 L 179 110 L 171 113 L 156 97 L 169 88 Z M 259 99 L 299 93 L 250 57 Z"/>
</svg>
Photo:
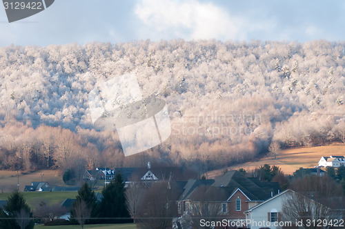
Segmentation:
<svg viewBox="0 0 345 229">
<path fill-rule="evenodd" d="M 80 225 L 62 225 L 62 226 L 34 226 L 34 229 L 79 229 Z M 124 223 L 124 224 L 91 224 L 85 225 L 84 228 L 100 228 L 100 229 L 136 229 L 134 223 Z"/>
</svg>

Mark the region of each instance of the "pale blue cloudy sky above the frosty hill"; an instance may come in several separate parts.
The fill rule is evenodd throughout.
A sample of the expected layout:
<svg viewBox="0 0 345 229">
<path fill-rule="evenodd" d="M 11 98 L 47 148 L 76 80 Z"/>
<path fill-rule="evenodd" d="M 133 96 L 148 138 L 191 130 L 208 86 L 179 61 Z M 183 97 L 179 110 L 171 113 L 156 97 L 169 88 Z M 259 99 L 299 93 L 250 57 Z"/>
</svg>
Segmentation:
<svg viewBox="0 0 345 229">
<path fill-rule="evenodd" d="M 341 41 L 344 26 L 343 0 L 55 0 L 13 23 L 0 5 L 0 46 L 178 38 Z"/>
</svg>

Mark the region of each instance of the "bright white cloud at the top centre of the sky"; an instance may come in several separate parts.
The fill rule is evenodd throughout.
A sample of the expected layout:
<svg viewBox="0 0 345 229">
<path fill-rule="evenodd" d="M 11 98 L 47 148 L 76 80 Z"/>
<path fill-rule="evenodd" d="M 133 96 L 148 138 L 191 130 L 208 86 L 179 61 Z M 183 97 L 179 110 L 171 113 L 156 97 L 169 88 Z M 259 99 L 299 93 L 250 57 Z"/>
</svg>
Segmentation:
<svg viewBox="0 0 345 229">
<path fill-rule="evenodd" d="M 141 0 L 135 14 L 157 35 L 168 32 L 184 39 L 246 39 L 240 32 L 242 21 L 213 3 Z"/>
</svg>

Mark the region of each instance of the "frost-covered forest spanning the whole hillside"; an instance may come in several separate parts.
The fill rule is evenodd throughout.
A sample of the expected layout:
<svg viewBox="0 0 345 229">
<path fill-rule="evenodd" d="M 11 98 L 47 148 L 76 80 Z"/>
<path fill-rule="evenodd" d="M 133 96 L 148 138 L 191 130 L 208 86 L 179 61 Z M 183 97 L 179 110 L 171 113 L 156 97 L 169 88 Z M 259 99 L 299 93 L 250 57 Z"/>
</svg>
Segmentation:
<svg viewBox="0 0 345 229">
<path fill-rule="evenodd" d="M 124 157 L 88 93 L 126 73 L 166 101 L 172 133 Z M 0 48 L 0 169 L 211 170 L 282 148 L 345 142 L 345 42 L 133 41 Z"/>
</svg>

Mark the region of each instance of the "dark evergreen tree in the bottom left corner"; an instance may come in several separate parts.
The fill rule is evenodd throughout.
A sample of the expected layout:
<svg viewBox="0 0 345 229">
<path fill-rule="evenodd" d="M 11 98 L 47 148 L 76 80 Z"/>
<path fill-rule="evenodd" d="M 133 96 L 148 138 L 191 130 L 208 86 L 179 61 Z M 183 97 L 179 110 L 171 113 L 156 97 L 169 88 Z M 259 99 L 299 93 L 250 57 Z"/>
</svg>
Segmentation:
<svg viewBox="0 0 345 229">
<path fill-rule="evenodd" d="M 3 210 L 0 208 L 1 229 L 32 229 L 34 221 L 30 219 L 32 213 L 23 195 L 18 191 L 13 192 Z"/>
</svg>

